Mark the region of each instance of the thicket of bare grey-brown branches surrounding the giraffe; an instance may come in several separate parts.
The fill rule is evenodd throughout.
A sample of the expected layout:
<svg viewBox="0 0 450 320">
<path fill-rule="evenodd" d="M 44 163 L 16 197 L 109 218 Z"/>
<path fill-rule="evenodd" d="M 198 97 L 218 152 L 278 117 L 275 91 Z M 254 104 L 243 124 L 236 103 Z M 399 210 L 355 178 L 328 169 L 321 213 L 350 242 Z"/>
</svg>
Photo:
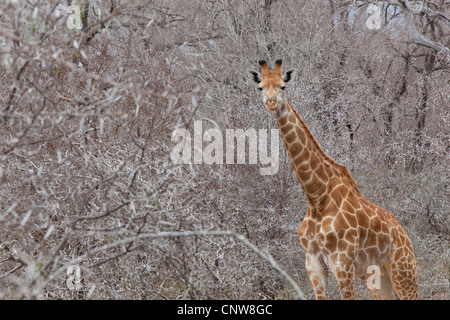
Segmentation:
<svg viewBox="0 0 450 320">
<path fill-rule="evenodd" d="M 269 176 L 170 157 L 194 121 L 276 128 L 246 70 L 282 58 L 322 148 L 410 235 L 420 297 L 448 299 L 450 5 L 377 5 L 371 29 L 369 1 L 2 1 L 0 298 L 312 298 L 282 142 Z"/>
</svg>

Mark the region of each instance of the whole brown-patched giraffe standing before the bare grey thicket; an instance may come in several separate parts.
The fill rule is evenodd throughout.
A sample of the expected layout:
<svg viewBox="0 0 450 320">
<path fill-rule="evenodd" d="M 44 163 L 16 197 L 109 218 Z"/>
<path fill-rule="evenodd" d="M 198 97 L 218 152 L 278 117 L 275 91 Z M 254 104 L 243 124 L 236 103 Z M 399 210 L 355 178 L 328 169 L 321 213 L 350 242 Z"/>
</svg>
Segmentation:
<svg viewBox="0 0 450 320">
<path fill-rule="evenodd" d="M 272 72 L 266 61 L 259 64 L 261 78 L 258 72 L 249 72 L 275 116 L 308 200 L 298 236 L 316 299 L 327 299 L 329 272 L 336 278 L 341 299 L 354 299 L 356 277 L 375 299 L 394 299 L 394 291 L 400 299 L 417 299 L 416 262 L 406 231 L 392 213 L 359 192 L 347 168 L 325 154 L 291 106 L 284 89 L 295 69 L 283 77 L 282 60 L 275 62 Z"/>
</svg>

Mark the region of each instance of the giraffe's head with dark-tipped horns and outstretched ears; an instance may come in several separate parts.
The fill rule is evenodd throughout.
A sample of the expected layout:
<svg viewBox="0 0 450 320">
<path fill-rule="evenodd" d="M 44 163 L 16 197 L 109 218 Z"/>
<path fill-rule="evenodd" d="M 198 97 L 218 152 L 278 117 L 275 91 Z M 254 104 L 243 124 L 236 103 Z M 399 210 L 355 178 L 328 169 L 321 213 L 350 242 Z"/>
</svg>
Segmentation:
<svg viewBox="0 0 450 320">
<path fill-rule="evenodd" d="M 258 72 L 249 70 L 253 76 L 253 81 L 258 84 L 258 89 L 262 91 L 263 102 L 269 110 L 275 110 L 279 104 L 283 103 L 283 91 L 286 88 L 286 83 L 292 79 L 292 74 L 295 71 L 295 69 L 288 70 L 283 77 L 281 75 L 282 62 L 281 59 L 277 60 L 275 62 L 275 68 L 271 72 L 267 66 L 267 62 L 260 60 L 259 64 L 262 70 L 262 78 L 260 78 Z"/>
</svg>

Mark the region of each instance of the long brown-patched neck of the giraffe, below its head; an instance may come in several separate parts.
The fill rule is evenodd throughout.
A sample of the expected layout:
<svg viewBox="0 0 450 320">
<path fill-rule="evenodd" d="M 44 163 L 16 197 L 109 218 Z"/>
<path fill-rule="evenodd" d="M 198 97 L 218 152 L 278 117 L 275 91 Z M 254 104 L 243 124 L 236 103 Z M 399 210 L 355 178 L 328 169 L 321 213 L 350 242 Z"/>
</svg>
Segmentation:
<svg viewBox="0 0 450 320">
<path fill-rule="evenodd" d="M 318 206 L 327 199 L 330 177 L 347 169 L 325 154 L 287 99 L 274 114 L 303 192 L 311 205 Z"/>
</svg>

